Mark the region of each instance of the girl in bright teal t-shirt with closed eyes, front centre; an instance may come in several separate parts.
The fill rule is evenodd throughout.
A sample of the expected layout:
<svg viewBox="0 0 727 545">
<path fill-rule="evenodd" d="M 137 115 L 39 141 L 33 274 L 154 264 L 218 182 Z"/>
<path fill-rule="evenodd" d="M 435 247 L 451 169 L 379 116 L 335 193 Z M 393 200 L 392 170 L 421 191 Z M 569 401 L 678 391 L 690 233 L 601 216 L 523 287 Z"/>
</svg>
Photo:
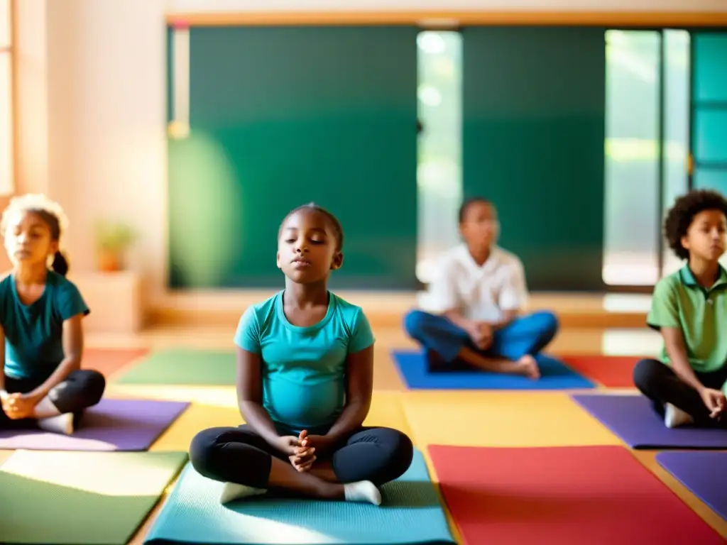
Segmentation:
<svg viewBox="0 0 727 545">
<path fill-rule="evenodd" d="M 190 445 L 197 472 L 226 483 L 223 503 L 276 490 L 378 505 L 377 487 L 409 469 L 409 437 L 363 426 L 374 336 L 360 307 L 328 291 L 342 245 L 338 220 L 313 204 L 280 227 L 285 289 L 249 307 L 235 336 L 247 424 L 205 429 Z"/>
</svg>

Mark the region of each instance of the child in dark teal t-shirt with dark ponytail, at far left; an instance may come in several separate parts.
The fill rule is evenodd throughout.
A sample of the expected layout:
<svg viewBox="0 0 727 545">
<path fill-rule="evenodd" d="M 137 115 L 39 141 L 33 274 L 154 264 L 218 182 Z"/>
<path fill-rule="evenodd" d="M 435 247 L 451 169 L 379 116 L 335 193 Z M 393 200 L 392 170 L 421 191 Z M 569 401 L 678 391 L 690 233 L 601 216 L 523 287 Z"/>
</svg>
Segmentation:
<svg viewBox="0 0 727 545">
<path fill-rule="evenodd" d="M 105 389 L 97 371 L 81 371 L 89 309 L 65 278 L 60 252 L 66 219 L 44 195 L 12 199 L 0 232 L 12 271 L 0 280 L 0 429 L 40 427 L 71 435 L 82 411 Z"/>
</svg>

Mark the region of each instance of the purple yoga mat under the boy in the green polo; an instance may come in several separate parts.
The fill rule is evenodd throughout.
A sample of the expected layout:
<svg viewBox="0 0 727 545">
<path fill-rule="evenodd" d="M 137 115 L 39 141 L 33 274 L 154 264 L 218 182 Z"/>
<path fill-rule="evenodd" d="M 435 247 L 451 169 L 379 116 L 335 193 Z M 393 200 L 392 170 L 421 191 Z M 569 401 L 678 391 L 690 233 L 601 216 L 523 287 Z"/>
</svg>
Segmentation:
<svg viewBox="0 0 727 545">
<path fill-rule="evenodd" d="M 669 429 L 654 411 L 651 401 L 642 395 L 571 397 L 631 448 L 727 448 L 727 429 Z"/>
</svg>

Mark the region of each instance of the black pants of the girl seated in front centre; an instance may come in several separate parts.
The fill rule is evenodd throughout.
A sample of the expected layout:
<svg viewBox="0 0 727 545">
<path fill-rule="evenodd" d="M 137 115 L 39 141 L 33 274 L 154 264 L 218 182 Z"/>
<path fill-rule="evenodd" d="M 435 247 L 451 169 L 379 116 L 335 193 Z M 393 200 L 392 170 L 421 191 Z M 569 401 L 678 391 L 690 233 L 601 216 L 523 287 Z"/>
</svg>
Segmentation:
<svg viewBox="0 0 727 545">
<path fill-rule="evenodd" d="M 270 446 L 251 427 L 204 429 L 192 440 L 189 458 L 194 469 L 209 479 L 268 488 L 272 456 L 287 463 L 288 456 Z M 411 440 L 390 428 L 361 428 L 330 457 L 341 483 L 369 480 L 382 485 L 401 477 L 414 456 Z"/>
</svg>

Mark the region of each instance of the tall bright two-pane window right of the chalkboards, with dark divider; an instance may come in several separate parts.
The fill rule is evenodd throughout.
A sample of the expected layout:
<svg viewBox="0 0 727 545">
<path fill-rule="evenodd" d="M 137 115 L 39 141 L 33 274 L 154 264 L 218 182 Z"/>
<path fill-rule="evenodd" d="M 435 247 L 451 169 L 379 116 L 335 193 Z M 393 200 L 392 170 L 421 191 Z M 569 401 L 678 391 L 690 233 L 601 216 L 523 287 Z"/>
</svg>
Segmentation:
<svg viewBox="0 0 727 545">
<path fill-rule="evenodd" d="M 606 31 L 603 280 L 610 286 L 653 286 L 681 266 L 662 223 L 688 190 L 690 70 L 688 31 Z"/>
</svg>

